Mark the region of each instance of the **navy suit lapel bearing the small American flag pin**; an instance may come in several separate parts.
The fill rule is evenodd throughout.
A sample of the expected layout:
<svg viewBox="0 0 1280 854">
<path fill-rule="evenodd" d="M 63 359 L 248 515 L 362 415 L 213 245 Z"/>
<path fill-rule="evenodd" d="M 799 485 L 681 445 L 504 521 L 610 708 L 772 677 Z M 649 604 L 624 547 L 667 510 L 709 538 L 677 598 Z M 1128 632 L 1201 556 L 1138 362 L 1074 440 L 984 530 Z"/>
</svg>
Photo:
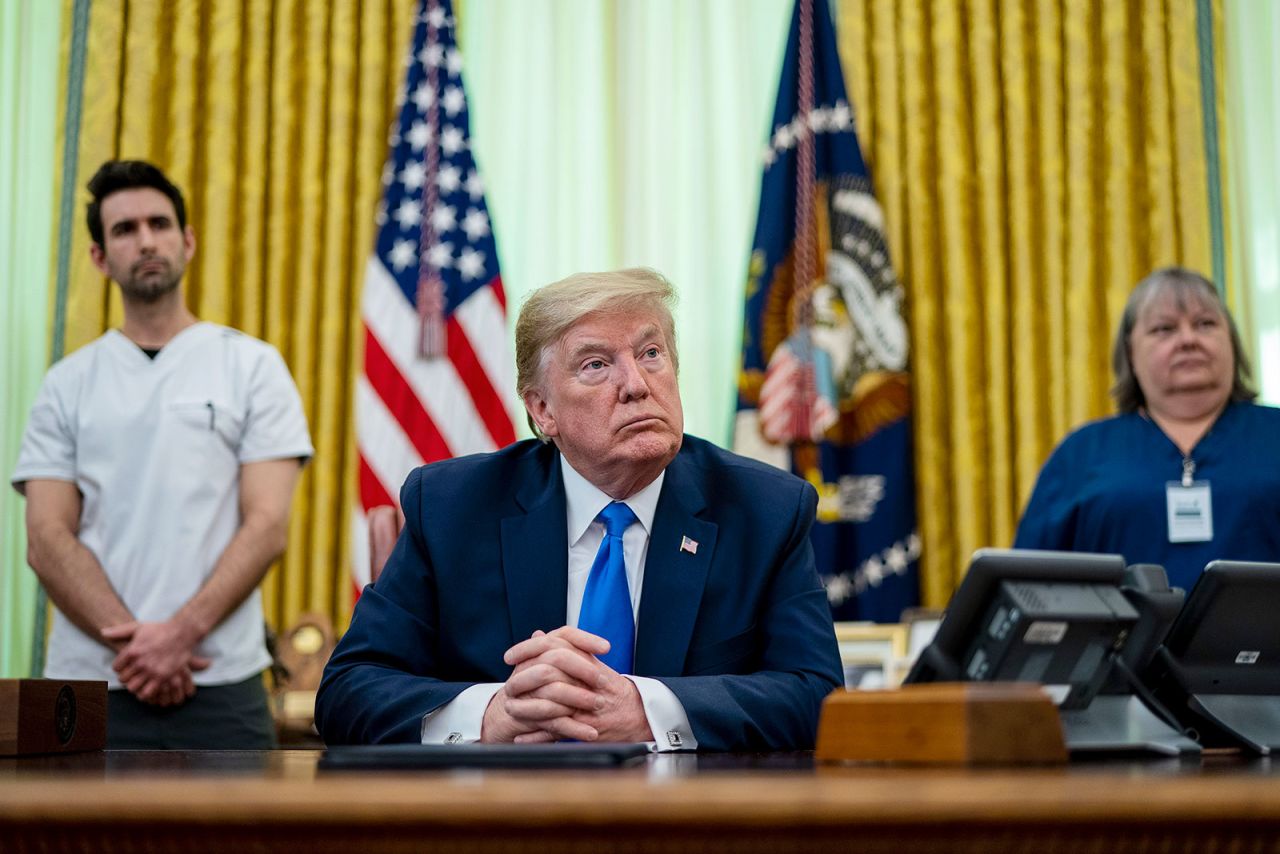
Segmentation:
<svg viewBox="0 0 1280 854">
<path fill-rule="evenodd" d="M 698 517 L 707 507 L 695 469 L 680 455 L 667 466 L 644 567 L 635 672 L 677 676 L 684 670 L 719 528 Z M 685 538 L 696 543 L 690 553 Z"/>
</svg>

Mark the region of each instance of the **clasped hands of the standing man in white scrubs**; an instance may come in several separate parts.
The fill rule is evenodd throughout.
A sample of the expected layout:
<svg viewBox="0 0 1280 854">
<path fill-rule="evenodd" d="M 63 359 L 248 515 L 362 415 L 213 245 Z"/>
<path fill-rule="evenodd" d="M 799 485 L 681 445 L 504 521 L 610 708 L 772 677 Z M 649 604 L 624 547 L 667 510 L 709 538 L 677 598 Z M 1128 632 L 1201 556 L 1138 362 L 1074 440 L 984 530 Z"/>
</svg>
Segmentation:
<svg viewBox="0 0 1280 854">
<path fill-rule="evenodd" d="M 200 638 L 173 620 L 108 626 L 102 638 L 116 650 L 111 668 L 120 684 L 152 705 L 186 702 L 196 693 L 192 673 L 210 665 L 193 652 Z"/>
</svg>

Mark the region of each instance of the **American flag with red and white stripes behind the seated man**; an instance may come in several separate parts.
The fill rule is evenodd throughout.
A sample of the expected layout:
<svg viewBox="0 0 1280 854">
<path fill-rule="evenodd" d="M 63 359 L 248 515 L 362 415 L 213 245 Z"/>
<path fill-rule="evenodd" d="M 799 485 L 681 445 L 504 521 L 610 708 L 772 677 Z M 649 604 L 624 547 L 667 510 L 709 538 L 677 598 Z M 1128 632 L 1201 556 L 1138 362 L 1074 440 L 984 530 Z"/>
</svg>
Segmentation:
<svg viewBox="0 0 1280 854">
<path fill-rule="evenodd" d="M 506 297 L 449 0 L 419 4 L 397 102 L 361 302 L 357 594 L 370 579 L 370 508 L 396 506 L 416 466 L 516 438 Z"/>
</svg>

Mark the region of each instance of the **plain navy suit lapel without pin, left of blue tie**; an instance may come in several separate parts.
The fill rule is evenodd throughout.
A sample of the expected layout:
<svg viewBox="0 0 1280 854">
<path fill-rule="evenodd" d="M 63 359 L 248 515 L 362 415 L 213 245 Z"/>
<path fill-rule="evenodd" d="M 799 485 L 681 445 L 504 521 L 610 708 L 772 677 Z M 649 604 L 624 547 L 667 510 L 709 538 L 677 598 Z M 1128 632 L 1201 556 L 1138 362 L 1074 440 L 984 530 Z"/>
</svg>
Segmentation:
<svg viewBox="0 0 1280 854">
<path fill-rule="evenodd" d="M 550 462 L 517 475 L 516 483 L 524 485 L 516 503 L 525 512 L 503 519 L 500 526 L 512 643 L 525 640 L 536 629 L 563 626 L 568 597 L 568 533 L 559 456 L 549 449 L 545 457 L 536 456 L 538 462 L 548 457 Z"/>
</svg>

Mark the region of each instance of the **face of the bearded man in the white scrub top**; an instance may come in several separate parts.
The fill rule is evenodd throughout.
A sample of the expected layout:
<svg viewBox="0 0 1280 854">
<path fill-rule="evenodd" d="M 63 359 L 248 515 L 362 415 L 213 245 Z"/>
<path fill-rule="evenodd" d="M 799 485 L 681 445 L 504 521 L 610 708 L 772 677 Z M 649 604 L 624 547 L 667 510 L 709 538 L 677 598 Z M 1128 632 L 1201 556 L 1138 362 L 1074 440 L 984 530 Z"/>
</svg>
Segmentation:
<svg viewBox="0 0 1280 854">
<path fill-rule="evenodd" d="M 191 227 L 178 227 L 173 202 L 159 189 L 120 189 L 102 200 L 102 246 L 90 255 L 125 298 L 155 302 L 172 293 L 196 254 Z"/>
</svg>

